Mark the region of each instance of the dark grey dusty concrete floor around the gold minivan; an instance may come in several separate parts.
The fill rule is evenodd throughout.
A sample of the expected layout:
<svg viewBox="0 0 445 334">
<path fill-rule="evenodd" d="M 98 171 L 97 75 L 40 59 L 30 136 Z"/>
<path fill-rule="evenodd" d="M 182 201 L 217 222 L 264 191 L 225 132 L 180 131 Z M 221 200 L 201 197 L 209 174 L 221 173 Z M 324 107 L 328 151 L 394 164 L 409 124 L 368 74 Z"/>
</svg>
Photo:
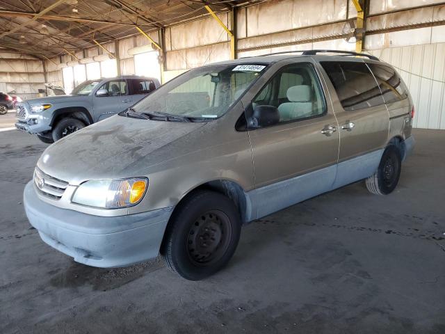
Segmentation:
<svg viewBox="0 0 445 334">
<path fill-rule="evenodd" d="M 30 228 L 47 145 L 0 133 L 0 333 L 445 333 L 445 132 L 417 130 L 390 196 L 359 182 L 243 228 L 229 266 L 76 264 Z"/>
</svg>

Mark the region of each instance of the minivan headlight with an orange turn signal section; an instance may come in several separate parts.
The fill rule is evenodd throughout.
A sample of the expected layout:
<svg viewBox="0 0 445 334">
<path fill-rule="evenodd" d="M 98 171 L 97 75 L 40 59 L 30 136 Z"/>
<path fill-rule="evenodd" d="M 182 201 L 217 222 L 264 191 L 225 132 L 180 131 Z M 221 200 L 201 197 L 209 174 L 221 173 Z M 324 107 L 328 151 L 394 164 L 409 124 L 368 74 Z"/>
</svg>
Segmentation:
<svg viewBox="0 0 445 334">
<path fill-rule="evenodd" d="M 76 189 L 72 196 L 72 202 L 104 209 L 130 207 L 142 200 L 147 186 L 148 180 L 145 177 L 124 180 L 91 180 Z"/>
</svg>

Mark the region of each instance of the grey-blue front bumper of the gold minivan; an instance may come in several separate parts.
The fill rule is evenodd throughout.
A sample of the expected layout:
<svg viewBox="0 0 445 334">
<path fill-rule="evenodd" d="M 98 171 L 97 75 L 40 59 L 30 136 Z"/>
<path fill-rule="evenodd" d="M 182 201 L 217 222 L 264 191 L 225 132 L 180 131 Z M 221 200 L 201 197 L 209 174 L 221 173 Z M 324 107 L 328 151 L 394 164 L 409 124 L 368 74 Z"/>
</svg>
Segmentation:
<svg viewBox="0 0 445 334">
<path fill-rule="evenodd" d="M 38 198 L 33 182 L 24 190 L 26 216 L 42 240 L 74 261 L 92 267 L 125 267 L 152 260 L 172 207 L 127 216 L 93 216 L 61 209 Z"/>
</svg>

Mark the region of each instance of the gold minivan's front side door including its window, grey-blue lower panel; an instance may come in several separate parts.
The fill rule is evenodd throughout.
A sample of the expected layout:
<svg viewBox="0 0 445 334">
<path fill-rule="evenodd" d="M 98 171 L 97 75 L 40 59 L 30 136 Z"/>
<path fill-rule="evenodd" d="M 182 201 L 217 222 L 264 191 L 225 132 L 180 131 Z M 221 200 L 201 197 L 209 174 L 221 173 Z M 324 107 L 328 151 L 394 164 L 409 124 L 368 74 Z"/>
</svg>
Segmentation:
<svg viewBox="0 0 445 334">
<path fill-rule="evenodd" d="M 273 106 L 278 113 L 274 124 L 248 129 L 254 162 L 255 190 L 250 194 L 256 207 L 254 218 L 328 191 L 335 179 L 337 120 L 314 62 L 300 59 L 280 68 L 246 111 L 250 117 L 258 106 Z"/>
</svg>

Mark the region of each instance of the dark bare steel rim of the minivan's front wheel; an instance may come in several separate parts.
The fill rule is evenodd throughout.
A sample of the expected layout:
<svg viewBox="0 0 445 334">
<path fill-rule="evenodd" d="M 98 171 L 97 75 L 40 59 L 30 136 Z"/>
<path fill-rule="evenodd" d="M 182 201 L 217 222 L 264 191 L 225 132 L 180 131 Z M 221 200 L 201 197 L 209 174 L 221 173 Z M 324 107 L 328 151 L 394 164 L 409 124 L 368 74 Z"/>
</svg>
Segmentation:
<svg viewBox="0 0 445 334">
<path fill-rule="evenodd" d="M 197 266 L 218 262 L 232 237 L 232 225 L 224 212 L 212 210 L 195 220 L 188 231 L 187 251 Z"/>
</svg>

